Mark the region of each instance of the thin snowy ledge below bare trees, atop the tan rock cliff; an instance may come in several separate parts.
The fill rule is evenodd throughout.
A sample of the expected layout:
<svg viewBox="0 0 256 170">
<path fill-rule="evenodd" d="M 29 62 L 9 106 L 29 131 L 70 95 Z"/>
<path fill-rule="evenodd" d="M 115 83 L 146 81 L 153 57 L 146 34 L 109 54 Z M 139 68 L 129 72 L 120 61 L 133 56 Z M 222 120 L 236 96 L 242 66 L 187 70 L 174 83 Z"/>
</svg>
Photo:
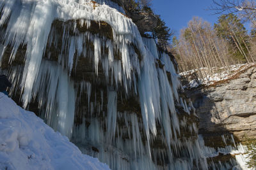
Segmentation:
<svg viewBox="0 0 256 170">
<path fill-rule="evenodd" d="M 191 88 L 196 88 L 199 85 L 206 85 L 207 86 L 207 85 L 213 84 L 216 81 L 227 80 L 228 78 L 231 78 L 234 74 L 238 73 L 239 71 L 243 71 L 244 69 L 247 69 L 248 67 L 250 67 L 250 66 L 252 66 L 254 64 L 255 63 L 236 64 L 236 65 L 229 66 L 229 68 L 220 67 L 220 68 L 216 69 L 216 73 L 213 73 L 211 75 L 207 74 L 208 68 L 207 67 L 203 67 L 203 68 L 200 68 L 200 71 L 202 73 L 206 73 L 207 74 L 207 77 L 205 77 L 204 79 L 200 79 L 200 78 L 198 78 L 197 80 L 193 79 L 193 74 L 194 73 L 196 73 L 196 74 L 199 73 L 198 69 L 193 69 L 193 70 L 189 70 L 189 71 L 186 71 L 186 72 L 182 72 L 179 75 L 180 76 L 185 76 L 189 80 L 188 85 L 184 85 L 183 88 L 184 89 L 186 89 L 186 88 L 191 89 Z M 228 73 L 227 70 L 230 73 Z"/>
</svg>

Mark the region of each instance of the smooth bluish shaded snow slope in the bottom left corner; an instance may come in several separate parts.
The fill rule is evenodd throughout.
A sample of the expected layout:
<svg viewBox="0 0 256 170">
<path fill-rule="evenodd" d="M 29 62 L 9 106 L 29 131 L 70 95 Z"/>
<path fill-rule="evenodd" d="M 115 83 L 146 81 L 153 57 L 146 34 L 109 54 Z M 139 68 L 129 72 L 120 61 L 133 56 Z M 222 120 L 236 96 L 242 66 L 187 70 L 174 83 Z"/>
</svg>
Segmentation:
<svg viewBox="0 0 256 170">
<path fill-rule="evenodd" d="M 0 92 L 0 169 L 109 169 Z"/>
</svg>

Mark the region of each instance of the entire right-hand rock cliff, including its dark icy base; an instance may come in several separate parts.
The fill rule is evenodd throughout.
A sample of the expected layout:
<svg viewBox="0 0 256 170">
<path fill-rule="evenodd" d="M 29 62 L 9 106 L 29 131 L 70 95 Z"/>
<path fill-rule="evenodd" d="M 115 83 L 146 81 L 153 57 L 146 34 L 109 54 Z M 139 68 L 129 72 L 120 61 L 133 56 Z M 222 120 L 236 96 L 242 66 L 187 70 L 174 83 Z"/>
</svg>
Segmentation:
<svg viewBox="0 0 256 170">
<path fill-rule="evenodd" d="M 255 140 L 256 67 L 251 65 L 242 70 L 227 80 L 185 91 L 198 115 L 198 134 L 204 139 L 205 150 L 213 151 L 207 156 L 212 169 L 229 169 L 234 162 L 244 160 L 246 147 L 239 143 Z M 236 168 L 248 169 L 248 161 Z M 218 162 L 225 167 L 216 167 Z"/>
</svg>

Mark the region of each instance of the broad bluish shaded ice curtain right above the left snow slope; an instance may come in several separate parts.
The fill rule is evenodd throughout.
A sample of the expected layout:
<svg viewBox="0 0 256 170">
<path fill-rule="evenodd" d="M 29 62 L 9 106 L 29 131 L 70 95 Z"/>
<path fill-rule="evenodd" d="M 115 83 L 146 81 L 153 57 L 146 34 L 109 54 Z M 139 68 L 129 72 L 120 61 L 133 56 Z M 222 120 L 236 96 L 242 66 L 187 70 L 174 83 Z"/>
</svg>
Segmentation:
<svg viewBox="0 0 256 170">
<path fill-rule="evenodd" d="M 42 89 L 47 89 L 46 93 Z M 46 106 L 45 122 L 71 138 L 77 95 L 68 72 L 54 62 L 42 60 L 31 92 L 33 98 L 37 96 L 38 102 Z"/>
</svg>

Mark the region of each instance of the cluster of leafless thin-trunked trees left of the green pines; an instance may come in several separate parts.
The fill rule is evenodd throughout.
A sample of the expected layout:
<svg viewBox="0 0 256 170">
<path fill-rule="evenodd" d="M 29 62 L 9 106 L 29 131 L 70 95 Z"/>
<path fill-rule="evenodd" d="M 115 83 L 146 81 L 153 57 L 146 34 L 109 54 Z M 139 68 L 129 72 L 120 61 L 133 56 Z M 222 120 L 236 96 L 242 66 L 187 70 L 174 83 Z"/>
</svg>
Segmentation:
<svg viewBox="0 0 256 170">
<path fill-rule="evenodd" d="M 209 22 L 198 17 L 180 31 L 179 41 L 175 40 L 173 48 L 180 71 L 194 69 L 200 79 L 208 79 L 220 67 L 229 72 L 228 66 L 236 63 L 227 41 L 217 36 Z"/>
</svg>

